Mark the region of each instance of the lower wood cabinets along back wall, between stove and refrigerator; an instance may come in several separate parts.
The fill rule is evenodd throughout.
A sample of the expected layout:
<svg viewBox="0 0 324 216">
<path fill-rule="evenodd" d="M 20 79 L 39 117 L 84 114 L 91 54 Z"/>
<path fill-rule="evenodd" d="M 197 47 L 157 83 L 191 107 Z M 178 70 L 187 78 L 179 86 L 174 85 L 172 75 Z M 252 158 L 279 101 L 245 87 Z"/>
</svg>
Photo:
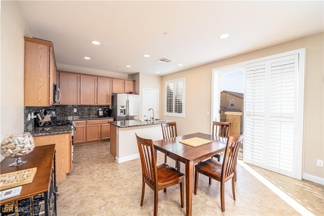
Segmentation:
<svg viewBox="0 0 324 216">
<path fill-rule="evenodd" d="M 73 121 L 74 131 L 73 144 L 85 144 L 108 140 L 110 138 L 110 123 L 113 118 Z"/>
</svg>

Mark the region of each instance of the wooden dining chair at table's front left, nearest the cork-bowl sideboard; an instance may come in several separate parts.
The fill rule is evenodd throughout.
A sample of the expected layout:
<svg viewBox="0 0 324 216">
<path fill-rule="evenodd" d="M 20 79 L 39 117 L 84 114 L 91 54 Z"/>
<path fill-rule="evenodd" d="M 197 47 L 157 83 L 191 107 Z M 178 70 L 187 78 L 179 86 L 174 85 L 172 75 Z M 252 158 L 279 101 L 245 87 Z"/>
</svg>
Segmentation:
<svg viewBox="0 0 324 216">
<path fill-rule="evenodd" d="M 145 184 L 154 191 L 154 216 L 157 215 L 158 191 L 180 184 L 181 207 L 184 206 L 184 174 L 167 163 L 156 165 L 156 156 L 152 140 L 140 138 L 135 134 L 142 165 L 142 197 L 143 205 Z"/>
</svg>

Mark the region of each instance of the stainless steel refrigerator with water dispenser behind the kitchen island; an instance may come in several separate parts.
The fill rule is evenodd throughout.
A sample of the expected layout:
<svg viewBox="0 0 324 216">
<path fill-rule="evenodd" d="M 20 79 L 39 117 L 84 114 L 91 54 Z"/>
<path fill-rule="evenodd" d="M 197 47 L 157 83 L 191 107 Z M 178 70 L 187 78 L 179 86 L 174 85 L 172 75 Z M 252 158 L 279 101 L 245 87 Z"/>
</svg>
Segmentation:
<svg viewBox="0 0 324 216">
<path fill-rule="evenodd" d="M 115 121 L 140 118 L 140 96 L 132 94 L 112 94 L 111 116 Z"/>
</svg>

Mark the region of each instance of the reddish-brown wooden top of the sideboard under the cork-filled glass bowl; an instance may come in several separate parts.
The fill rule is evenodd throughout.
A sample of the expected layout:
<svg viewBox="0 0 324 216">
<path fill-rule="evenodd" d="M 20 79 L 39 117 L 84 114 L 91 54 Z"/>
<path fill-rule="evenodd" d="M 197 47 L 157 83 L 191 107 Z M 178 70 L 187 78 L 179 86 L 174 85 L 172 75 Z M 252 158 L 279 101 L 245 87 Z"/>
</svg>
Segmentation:
<svg viewBox="0 0 324 216">
<path fill-rule="evenodd" d="M 15 158 L 5 158 L 1 162 L 1 174 L 33 167 L 37 167 L 37 171 L 32 183 L 22 185 L 19 196 L 4 199 L 1 204 L 47 192 L 50 186 L 54 152 L 55 144 L 35 147 L 30 154 L 21 157 L 22 160 L 28 161 L 26 164 L 14 167 L 8 165 L 15 162 Z"/>
</svg>

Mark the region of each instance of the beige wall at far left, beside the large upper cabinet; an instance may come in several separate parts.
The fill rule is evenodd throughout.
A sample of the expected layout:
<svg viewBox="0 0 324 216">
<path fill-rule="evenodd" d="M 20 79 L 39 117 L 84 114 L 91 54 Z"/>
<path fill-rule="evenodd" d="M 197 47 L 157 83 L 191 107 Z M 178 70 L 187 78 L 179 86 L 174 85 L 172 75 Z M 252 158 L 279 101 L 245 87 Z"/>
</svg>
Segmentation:
<svg viewBox="0 0 324 216">
<path fill-rule="evenodd" d="M 24 129 L 24 35 L 30 33 L 17 3 L 1 1 L 1 141 Z"/>
</svg>

